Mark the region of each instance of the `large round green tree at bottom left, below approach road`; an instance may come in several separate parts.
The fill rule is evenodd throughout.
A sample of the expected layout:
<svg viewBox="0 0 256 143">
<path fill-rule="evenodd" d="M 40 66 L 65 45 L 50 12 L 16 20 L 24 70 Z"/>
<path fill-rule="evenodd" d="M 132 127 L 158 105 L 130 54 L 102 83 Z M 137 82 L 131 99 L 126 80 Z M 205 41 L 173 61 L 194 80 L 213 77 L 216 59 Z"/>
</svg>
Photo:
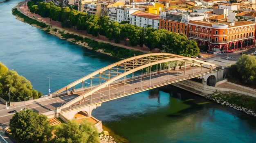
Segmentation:
<svg viewBox="0 0 256 143">
<path fill-rule="evenodd" d="M 19 143 L 46 142 L 52 137 L 47 117 L 32 110 L 16 112 L 10 119 L 10 130 Z"/>
</svg>

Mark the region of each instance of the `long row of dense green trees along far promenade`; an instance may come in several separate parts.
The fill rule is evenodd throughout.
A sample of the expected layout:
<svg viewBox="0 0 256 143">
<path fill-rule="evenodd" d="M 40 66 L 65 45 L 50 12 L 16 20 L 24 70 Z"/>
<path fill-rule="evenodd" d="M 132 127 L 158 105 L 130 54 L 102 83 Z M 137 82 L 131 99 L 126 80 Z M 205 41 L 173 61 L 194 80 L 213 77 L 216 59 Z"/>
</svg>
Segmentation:
<svg viewBox="0 0 256 143">
<path fill-rule="evenodd" d="M 35 2 L 34 2 L 35 4 Z M 97 17 L 77 11 L 71 7 L 60 8 L 52 2 L 39 2 L 38 6 L 29 4 L 31 12 L 38 13 L 42 17 L 50 17 L 61 22 L 63 27 L 76 26 L 78 30 L 86 30 L 93 36 L 104 35 L 108 40 L 120 43 L 121 40 L 129 40 L 131 46 L 146 45 L 150 50 L 158 48 L 165 52 L 183 56 L 195 56 L 199 54 L 199 48 L 194 40 L 190 41 L 185 35 L 173 33 L 164 29 L 157 30 L 147 27 L 139 27 L 128 24 L 128 21 L 111 22 L 108 17 Z"/>
</svg>

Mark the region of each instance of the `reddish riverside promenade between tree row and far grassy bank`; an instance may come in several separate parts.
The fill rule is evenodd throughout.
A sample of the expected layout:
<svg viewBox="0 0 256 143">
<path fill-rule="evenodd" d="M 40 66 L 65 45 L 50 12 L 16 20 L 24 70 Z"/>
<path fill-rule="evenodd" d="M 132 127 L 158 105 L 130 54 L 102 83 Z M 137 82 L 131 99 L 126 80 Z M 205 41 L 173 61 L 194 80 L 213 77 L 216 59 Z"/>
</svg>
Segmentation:
<svg viewBox="0 0 256 143">
<path fill-rule="evenodd" d="M 126 49 L 130 49 L 130 50 L 137 50 L 137 51 L 146 52 L 146 53 L 147 52 L 153 52 L 153 53 L 158 52 L 158 49 L 153 49 L 152 51 L 150 51 L 150 49 L 147 48 L 145 45 L 143 45 L 143 48 L 142 48 L 142 47 L 139 47 L 139 45 L 137 45 L 137 46 L 127 46 L 127 45 L 125 45 L 125 41 L 120 41 L 120 43 L 115 43 L 114 40 L 110 41 L 110 40 L 108 40 L 107 37 L 105 37 L 103 35 L 99 35 L 97 37 L 94 37 L 91 34 L 88 34 L 86 32 L 86 30 L 77 30 L 76 27 L 74 27 L 74 28 L 63 28 L 61 26 L 61 22 L 51 20 L 50 18 L 47 18 L 47 17 L 41 17 L 40 15 L 35 14 L 35 13 L 34 14 L 31 13 L 29 11 L 28 6 L 27 6 L 27 2 L 24 3 L 24 4 L 16 6 L 16 8 L 18 9 L 18 11 L 20 11 L 24 15 L 27 15 L 30 18 L 32 18 L 34 20 L 37 20 L 38 22 L 43 22 L 45 24 L 52 25 L 53 29 L 56 28 L 56 29 L 59 29 L 59 30 L 62 30 L 62 31 L 65 30 L 65 32 L 68 32 L 70 34 L 76 34 L 76 35 L 83 36 L 83 37 L 86 37 L 86 38 L 89 38 L 89 39 L 94 39 L 95 41 L 99 41 L 99 42 L 103 42 L 103 43 L 110 43 L 112 45 L 119 46 L 119 47 L 126 48 Z M 129 42 L 127 42 L 127 44 L 129 44 Z"/>
</svg>

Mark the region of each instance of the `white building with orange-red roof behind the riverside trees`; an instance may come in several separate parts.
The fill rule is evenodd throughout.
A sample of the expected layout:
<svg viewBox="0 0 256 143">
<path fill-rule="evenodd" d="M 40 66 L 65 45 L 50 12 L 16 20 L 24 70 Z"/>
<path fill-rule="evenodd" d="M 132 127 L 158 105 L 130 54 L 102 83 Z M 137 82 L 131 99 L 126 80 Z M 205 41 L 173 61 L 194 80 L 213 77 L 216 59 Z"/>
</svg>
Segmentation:
<svg viewBox="0 0 256 143">
<path fill-rule="evenodd" d="M 159 29 L 159 15 L 152 13 L 132 13 L 132 24 L 140 27 L 151 26 L 152 28 Z"/>
</svg>

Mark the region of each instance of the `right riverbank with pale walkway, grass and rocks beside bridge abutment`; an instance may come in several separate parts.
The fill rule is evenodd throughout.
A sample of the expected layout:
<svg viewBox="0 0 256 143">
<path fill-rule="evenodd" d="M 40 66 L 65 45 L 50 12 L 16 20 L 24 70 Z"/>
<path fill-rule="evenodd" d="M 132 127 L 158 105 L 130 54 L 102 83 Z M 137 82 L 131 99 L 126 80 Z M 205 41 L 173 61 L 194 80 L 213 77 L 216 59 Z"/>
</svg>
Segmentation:
<svg viewBox="0 0 256 143">
<path fill-rule="evenodd" d="M 256 117 L 256 96 L 253 89 L 250 89 L 252 90 L 250 92 L 246 92 L 243 90 L 245 87 L 238 87 L 235 85 L 233 85 L 232 88 L 230 88 L 230 86 L 219 87 L 219 85 L 222 85 L 225 81 L 227 80 L 217 82 L 216 87 L 203 85 L 202 83 L 195 82 L 193 80 L 184 80 L 173 83 L 172 85 L 203 96 L 206 99 L 213 100 L 218 104 L 234 108 L 238 111 L 242 111 L 248 115 Z M 249 91 L 249 89 L 247 89 L 247 91 Z"/>
</svg>

